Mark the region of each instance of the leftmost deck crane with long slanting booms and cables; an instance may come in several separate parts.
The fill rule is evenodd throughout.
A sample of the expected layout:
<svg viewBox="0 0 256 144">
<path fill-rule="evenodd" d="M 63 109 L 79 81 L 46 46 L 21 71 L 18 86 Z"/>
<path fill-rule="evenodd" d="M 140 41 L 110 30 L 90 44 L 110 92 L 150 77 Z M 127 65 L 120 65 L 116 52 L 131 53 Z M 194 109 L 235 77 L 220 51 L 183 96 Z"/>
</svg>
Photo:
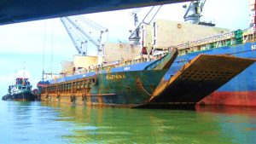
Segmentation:
<svg viewBox="0 0 256 144">
<path fill-rule="evenodd" d="M 102 35 L 107 33 L 108 29 L 95 22 L 84 18 L 81 15 L 61 17 L 61 22 L 65 26 L 69 37 L 71 38 L 79 55 L 87 54 L 88 42 L 97 48 L 97 54 L 102 54 Z"/>
</svg>

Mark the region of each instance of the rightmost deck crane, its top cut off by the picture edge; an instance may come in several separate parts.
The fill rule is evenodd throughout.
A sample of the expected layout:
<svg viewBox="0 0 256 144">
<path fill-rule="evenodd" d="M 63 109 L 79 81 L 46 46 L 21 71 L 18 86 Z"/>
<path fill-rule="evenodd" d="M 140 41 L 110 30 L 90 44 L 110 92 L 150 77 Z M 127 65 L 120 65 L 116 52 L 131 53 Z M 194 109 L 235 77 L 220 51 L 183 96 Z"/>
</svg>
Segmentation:
<svg viewBox="0 0 256 144">
<path fill-rule="evenodd" d="M 207 0 L 196 0 L 192 1 L 189 4 L 189 7 L 187 5 L 183 5 L 183 8 L 186 9 L 186 12 L 183 16 L 184 21 L 188 21 L 192 24 L 199 24 L 200 18 L 201 18 L 201 11 L 205 5 Z"/>
</svg>

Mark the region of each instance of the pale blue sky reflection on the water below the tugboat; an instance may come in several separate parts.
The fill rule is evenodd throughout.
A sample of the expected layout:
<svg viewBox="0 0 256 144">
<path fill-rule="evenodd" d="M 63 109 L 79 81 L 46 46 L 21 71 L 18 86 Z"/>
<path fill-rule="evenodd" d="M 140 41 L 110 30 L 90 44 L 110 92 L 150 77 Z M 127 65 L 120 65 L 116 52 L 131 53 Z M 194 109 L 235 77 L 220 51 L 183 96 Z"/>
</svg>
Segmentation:
<svg viewBox="0 0 256 144">
<path fill-rule="evenodd" d="M 65 124 L 48 118 L 58 114 L 40 102 L 0 101 L 0 143 L 68 143 L 61 138 Z"/>
</svg>

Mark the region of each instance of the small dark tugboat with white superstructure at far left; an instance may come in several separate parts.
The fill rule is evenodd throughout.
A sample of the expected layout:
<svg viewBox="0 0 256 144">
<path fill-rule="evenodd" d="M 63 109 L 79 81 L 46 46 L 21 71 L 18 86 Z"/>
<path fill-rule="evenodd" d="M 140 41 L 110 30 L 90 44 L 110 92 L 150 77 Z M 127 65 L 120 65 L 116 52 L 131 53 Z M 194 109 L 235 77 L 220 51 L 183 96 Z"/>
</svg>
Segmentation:
<svg viewBox="0 0 256 144">
<path fill-rule="evenodd" d="M 36 96 L 32 93 L 32 85 L 28 78 L 16 78 L 15 85 L 9 85 L 9 94 L 4 95 L 3 101 L 35 101 Z"/>
</svg>

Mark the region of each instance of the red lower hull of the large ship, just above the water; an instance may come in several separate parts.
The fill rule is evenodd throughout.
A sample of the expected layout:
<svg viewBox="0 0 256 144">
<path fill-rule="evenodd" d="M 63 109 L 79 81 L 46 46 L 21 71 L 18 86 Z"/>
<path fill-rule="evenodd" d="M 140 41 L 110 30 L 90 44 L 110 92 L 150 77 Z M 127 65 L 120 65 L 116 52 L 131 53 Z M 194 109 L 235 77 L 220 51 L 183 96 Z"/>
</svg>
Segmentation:
<svg viewBox="0 0 256 144">
<path fill-rule="evenodd" d="M 256 91 L 217 91 L 208 95 L 198 104 L 256 107 Z"/>
</svg>

